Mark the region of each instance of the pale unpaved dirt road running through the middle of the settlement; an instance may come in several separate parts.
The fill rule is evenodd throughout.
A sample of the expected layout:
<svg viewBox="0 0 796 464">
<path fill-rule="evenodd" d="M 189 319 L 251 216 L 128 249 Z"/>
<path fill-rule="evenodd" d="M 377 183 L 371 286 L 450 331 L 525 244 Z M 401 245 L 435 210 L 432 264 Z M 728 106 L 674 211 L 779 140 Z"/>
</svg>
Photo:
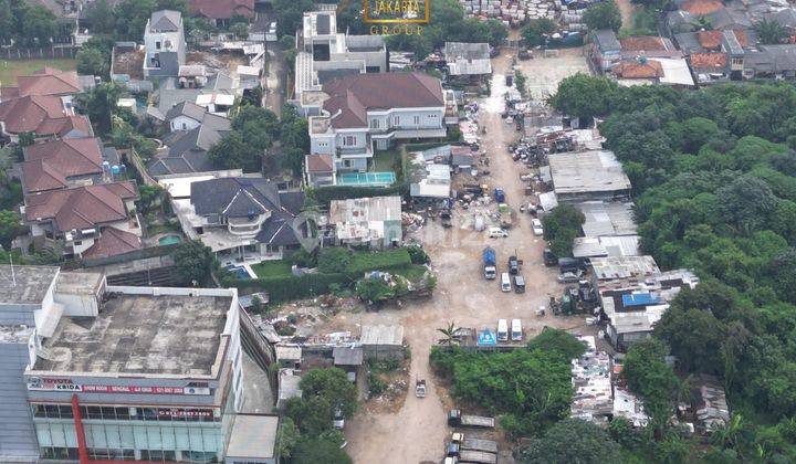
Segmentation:
<svg viewBox="0 0 796 464">
<path fill-rule="evenodd" d="M 524 186 L 520 180 L 521 172 L 525 172 L 526 168 L 510 157 L 506 144 L 516 139 L 519 133 L 513 124 L 504 123 L 500 116 L 505 73 L 510 65 L 511 60 L 505 52 L 493 61 L 493 96 L 482 102 L 479 118 L 486 126 L 482 147 L 491 158 L 489 182 L 492 187 L 503 187 L 507 202 L 517 209 L 523 199 L 528 200 L 523 194 Z M 537 65 L 541 63 L 537 62 Z M 439 338 L 437 328 L 453 320 L 459 327 L 494 329 L 499 318 L 520 318 L 526 337 L 537 335 L 544 326 L 575 328 L 575 333 L 587 330 L 583 317 L 553 317 L 549 312 L 542 318 L 534 315 L 535 308 L 547 304 L 551 293 L 561 296 L 563 287 L 556 282 L 556 271 L 545 267 L 542 262 L 544 242 L 533 235 L 528 214 L 519 214 L 519 223 L 507 239 L 486 239 L 483 233 L 463 231 L 455 223 L 451 229 L 442 229 L 439 222 L 428 223 L 419 238 L 439 275 L 432 298 L 378 313 L 342 313 L 334 320 L 338 328 L 349 327 L 353 330 L 363 324 L 401 324 L 405 339 L 411 348 L 411 380 L 425 378 L 428 382 L 425 399 L 417 399 L 410 392 L 396 413 L 359 413 L 347 422 L 347 450 L 356 463 L 441 461 L 444 441 L 451 431 L 446 424 L 446 407 L 438 391 L 440 387 L 434 383 L 428 362 L 430 348 Z M 526 281 L 526 293 L 501 293 L 499 281 L 483 278 L 481 251 L 486 244 L 498 252 L 499 272 L 506 271 L 507 257 L 515 251 L 524 260 L 522 274 Z M 511 462 L 511 457 L 502 462 Z"/>
</svg>

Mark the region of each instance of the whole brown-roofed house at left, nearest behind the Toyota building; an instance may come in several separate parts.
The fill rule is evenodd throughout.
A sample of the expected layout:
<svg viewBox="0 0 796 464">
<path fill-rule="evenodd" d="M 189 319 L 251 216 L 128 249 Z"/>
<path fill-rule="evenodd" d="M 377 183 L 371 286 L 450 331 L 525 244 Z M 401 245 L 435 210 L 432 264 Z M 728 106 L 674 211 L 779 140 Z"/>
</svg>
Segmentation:
<svg viewBox="0 0 796 464">
<path fill-rule="evenodd" d="M 135 214 L 138 189 L 135 181 L 72 187 L 29 194 L 24 199 L 24 220 L 36 249 L 50 249 L 66 257 L 81 257 L 108 228 L 117 236 L 140 236 Z M 107 250 L 107 245 L 101 245 Z"/>
</svg>

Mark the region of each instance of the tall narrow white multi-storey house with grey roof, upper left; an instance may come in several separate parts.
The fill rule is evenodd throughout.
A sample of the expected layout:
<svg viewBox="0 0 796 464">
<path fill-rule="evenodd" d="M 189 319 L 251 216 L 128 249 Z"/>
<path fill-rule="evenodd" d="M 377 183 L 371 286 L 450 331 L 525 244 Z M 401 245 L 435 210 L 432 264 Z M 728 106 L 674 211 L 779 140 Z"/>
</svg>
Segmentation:
<svg viewBox="0 0 796 464">
<path fill-rule="evenodd" d="M 186 57 L 182 14 L 172 10 L 151 13 L 144 29 L 144 77 L 178 76 Z"/>
</svg>

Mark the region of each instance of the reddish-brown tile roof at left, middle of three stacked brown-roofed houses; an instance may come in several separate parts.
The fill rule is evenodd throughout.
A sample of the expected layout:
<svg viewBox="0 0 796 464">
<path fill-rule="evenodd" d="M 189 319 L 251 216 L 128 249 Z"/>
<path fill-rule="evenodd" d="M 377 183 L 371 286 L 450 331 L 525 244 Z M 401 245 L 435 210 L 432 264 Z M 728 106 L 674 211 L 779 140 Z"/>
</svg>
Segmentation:
<svg viewBox="0 0 796 464">
<path fill-rule="evenodd" d="M 61 189 L 74 176 L 102 173 L 102 151 L 96 138 L 67 138 L 24 148 L 22 175 L 27 192 Z"/>
</svg>

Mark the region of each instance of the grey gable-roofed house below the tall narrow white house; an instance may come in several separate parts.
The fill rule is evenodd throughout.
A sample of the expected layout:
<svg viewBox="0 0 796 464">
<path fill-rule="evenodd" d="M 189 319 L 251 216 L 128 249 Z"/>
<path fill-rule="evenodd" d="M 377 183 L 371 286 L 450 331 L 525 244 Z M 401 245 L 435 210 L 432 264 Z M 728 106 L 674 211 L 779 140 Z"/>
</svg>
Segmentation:
<svg viewBox="0 0 796 464">
<path fill-rule="evenodd" d="M 182 120 L 187 127 L 192 119 L 181 116 L 185 115 L 178 115 L 174 120 Z M 147 171 L 153 177 L 211 171 L 213 166 L 208 158 L 208 151 L 230 130 L 229 119 L 203 113 L 201 124 L 197 127 L 189 130 L 179 129 L 164 138 L 166 148 L 153 158 Z"/>
</svg>

